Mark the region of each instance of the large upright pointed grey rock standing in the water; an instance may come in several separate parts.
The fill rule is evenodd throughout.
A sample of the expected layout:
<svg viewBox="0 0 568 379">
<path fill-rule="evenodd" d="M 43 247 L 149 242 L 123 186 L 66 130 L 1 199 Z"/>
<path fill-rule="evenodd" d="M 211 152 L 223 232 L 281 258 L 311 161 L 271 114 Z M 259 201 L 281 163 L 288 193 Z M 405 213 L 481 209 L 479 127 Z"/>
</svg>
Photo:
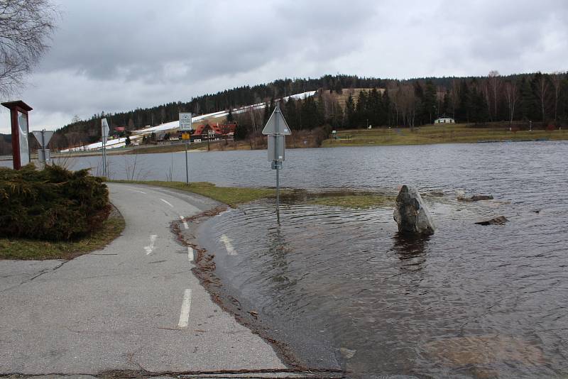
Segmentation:
<svg viewBox="0 0 568 379">
<path fill-rule="evenodd" d="M 396 197 L 394 218 L 401 233 L 434 234 L 436 229 L 420 193 L 406 185 L 403 185 Z"/>
</svg>

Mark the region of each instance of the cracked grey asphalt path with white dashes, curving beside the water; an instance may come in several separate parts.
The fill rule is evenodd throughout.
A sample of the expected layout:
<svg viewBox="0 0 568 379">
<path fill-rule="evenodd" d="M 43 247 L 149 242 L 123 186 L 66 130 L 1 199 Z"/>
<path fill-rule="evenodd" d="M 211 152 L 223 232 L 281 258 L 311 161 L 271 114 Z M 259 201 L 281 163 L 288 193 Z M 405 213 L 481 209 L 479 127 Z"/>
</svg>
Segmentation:
<svg viewBox="0 0 568 379">
<path fill-rule="evenodd" d="M 106 248 L 70 261 L 0 261 L 0 375 L 284 369 L 212 302 L 170 231 L 218 204 L 159 187 L 109 190 L 126 229 Z"/>
</svg>

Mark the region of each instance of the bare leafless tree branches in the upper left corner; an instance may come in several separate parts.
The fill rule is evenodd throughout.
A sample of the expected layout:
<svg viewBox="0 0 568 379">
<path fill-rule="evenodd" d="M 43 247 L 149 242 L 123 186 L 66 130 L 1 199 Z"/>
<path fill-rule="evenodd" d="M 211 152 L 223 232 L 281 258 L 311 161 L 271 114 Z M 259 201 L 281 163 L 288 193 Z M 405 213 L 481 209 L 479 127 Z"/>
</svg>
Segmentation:
<svg viewBox="0 0 568 379">
<path fill-rule="evenodd" d="M 58 15 L 51 0 L 0 0 L 0 93 L 21 87 L 48 49 Z"/>
</svg>

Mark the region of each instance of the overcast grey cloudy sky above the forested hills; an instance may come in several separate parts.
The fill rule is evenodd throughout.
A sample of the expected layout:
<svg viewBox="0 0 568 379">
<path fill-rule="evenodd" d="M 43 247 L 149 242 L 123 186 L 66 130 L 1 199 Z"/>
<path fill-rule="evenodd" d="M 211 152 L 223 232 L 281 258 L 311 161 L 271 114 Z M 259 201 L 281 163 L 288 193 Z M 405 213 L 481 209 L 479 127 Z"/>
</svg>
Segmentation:
<svg viewBox="0 0 568 379">
<path fill-rule="evenodd" d="M 33 107 L 31 129 L 284 77 L 568 70 L 567 0 L 58 4 L 52 48 L 11 97 Z"/>
</svg>

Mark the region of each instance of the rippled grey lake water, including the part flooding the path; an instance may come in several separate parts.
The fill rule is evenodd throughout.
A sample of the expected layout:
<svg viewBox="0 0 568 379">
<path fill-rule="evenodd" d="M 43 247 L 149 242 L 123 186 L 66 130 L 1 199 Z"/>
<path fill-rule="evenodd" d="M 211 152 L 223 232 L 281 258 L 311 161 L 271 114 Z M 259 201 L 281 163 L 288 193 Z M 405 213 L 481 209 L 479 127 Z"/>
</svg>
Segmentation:
<svg viewBox="0 0 568 379">
<path fill-rule="evenodd" d="M 317 339 L 354 377 L 566 378 L 567 156 L 565 142 L 288 150 L 285 187 L 443 192 L 425 196 L 436 233 L 401 238 L 392 209 L 297 202 L 278 225 L 267 200 L 207 221 L 203 243 L 224 285 L 312 366 Z M 114 178 L 185 180 L 183 153 L 109 161 Z M 190 163 L 192 181 L 275 184 L 265 151 L 190 153 Z M 495 200 L 458 202 L 457 191 Z M 498 215 L 508 223 L 474 224 Z"/>
</svg>

